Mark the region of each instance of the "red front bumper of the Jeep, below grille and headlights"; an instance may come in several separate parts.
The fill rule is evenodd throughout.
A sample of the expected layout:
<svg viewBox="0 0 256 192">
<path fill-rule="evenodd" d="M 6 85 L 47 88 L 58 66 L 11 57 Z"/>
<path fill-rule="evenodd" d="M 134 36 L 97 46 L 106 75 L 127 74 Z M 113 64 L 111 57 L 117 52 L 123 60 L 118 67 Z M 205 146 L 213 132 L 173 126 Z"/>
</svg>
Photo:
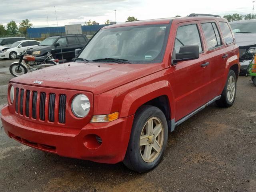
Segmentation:
<svg viewBox="0 0 256 192">
<path fill-rule="evenodd" d="M 124 159 L 134 116 L 108 123 L 89 123 L 82 129 L 42 125 L 28 122 L 2 109 L 2 124 L 6 134 L 27 146 L 60 156 L 118 163 Z M 99 144 L 95 135 L 100 136 Z"/>
</svg>

